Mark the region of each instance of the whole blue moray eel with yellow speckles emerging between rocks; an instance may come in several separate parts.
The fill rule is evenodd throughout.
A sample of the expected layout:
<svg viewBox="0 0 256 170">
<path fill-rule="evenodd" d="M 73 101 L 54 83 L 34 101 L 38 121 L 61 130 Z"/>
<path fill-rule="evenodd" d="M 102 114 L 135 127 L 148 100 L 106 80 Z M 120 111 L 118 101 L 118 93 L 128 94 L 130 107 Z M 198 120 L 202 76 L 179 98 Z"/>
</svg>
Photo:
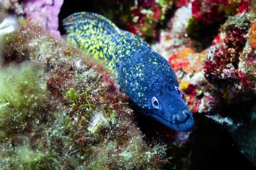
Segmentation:
<svg viewBox="0 0 256 170">
<path fill-rule="evenodd" d="M 176 75 L 161 55 L 138 36 L 102 15 L 74 13 L 63 20 L 67 39 L 114 70 L 138 111 L 177 131 L 194 125 Z"/>
</svg>

